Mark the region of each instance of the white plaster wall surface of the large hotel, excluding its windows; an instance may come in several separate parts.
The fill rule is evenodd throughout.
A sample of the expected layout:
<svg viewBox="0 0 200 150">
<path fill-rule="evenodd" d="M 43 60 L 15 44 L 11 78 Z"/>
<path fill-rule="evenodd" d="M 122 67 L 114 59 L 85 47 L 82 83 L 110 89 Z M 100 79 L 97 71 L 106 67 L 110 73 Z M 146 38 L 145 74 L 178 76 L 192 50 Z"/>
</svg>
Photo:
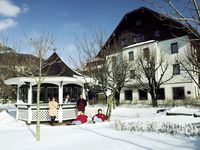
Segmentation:
<svg viewBox="0 0 200 150">
<path fill-rule="evenodd" d="M 178 43 L 178 53 L 176 54 L 171 54 L 171 43 Z M 182 36 L 178 38 L 173 38 L 169 40 L 164 40 L 160 42 L 156 41 L 150 41 L 150 42 L 143 42 L 143 44 L 135 44 L 132 46 L 128 46 L 127 48 L 124 49 L 123 55 L 128 59 L 128 54 L 129 52 L 133 51 L 134 52 L 134 60 L 137 58 L 137 55 L 143 53 L 143 48 L 148 47 L 149 50 L 151 51 L 152 49 L 156 51 L 156 54 L 160 56 L 160 54 L 164 55 L 166 58 L 166 64 L 169 63 L 170 67 L 168 68 L 166 75 L 164 79 L 168 79 L 172 73 L 173 73 L 173 64 L 176 64 L 175 60 L 178 59 L 179 57 L 183 57 L 185 54 L 185 51 L 190 48 L 190 44 L 188 41 L 187 36 Z M 159 61 L 159 58 L 158 60 Z M 130 64 L 134 65 L 134 61 L 131 61 Z M 160 70 L 158 72 L 161 72 Z M 157 74 L 159 76 L 159 73 Z M 128 85 L 133 85 L 136 84 L 135 80 L 130 80 Z M 191 97 L 194 98 L 197 96 L 198 91 L 196 90 L 196 85 L 192 81 L 192 79 L 189 77 L 189 75 L 181 71 L 180 75 L 175 75 L 170 81 L 165 83 L 164 85 L 161 86 L 161 88 L 165 89 L 165 97 L 166 99 L 173 99 L 173 92 L 172 88 L 173 87 L 184 87 L 185 90 L 185 96 L 186 97 Z M 121 96 L 120 99 L 124 100 L 125 95 L 124 95 L 124 90 L 130 90 L 130 88 L 123 88 L 121 91 Z M 191 91 L 191 94 L 188 95 L 187 91 Z M 138 94 L 138 89 L 132 88 L 132 95 L 133 95 L 133 100 L 134 99 L 139 99 L 139 94 Z M 150 98 L 148 96 L 148 98 Z"/>
</svg>

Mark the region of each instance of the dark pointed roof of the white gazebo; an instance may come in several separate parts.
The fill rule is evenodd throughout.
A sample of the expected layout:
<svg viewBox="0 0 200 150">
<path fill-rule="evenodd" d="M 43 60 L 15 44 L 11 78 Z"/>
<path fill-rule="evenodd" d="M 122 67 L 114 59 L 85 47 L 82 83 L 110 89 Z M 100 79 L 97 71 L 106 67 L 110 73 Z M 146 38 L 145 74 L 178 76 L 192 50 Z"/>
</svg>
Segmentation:
<svg viewBox="0 0 200 150">
<path fill-rule="evenodd" d="M 44 63 L 42 73 L 45 76 L 81 76 L 80 73 L 74 71 L 54 52 Z"/>
</svg>

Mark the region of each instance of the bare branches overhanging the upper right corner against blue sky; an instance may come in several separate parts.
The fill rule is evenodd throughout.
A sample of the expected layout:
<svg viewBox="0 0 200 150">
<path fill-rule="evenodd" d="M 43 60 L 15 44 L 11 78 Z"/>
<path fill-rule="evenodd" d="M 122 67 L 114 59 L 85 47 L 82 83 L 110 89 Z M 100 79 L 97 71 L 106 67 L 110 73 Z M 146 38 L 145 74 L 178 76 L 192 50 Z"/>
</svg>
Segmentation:
<svg viewBox="0 0 200 150">
<path fill-rule="evenodd" d="M 152 5 L 164 16 L 181 22 L 189 33 L 195 35 L 193 40 L 199 40 L 200 11 L 198 0 L 163 0 L 159 3 L 155 0 L 142 1 Z M 160 19 L 166 19 L 164 16 L 160 16 Z M 177 28 L 176 26 L 172 27 Z"/>
</svg>

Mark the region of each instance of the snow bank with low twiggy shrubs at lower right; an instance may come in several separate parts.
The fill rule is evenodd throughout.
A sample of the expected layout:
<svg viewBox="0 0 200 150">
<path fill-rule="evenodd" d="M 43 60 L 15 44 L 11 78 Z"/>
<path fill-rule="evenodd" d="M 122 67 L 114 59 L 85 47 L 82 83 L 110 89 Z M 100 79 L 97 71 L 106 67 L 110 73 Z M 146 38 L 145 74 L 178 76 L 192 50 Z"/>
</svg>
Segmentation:
<svg viewBox="0 0 200 150">
<path fill-rule="evenodd" d="M 194 114 L 198 109 L 186 107 L 174 107 L 162 113 L 149 113 L 139 117 L 130 117 L 127 120 L 114 120 L 112 126 L 117 130 L 131 132 L 157 132 L 178 134 L 186 136 L 200 135 L 200 117 L 193 116 L 166 116 L 173 114 Z"/>
</svg>

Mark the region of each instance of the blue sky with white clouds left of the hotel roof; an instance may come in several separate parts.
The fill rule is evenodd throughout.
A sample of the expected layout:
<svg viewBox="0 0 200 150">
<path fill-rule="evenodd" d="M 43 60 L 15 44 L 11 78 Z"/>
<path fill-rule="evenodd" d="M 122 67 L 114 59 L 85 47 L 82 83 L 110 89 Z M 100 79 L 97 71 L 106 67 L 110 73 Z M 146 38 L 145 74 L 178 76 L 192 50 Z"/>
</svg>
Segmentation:
<svg viewBox="0 0 200 150">
<path fill-rule="evenodd" d="M 0 0 L 0 32 L 21 53 L 33 53 L 27 36 L 51 34 L 58 54 L 73 66 L 68 55 L 76 58 L 76 37 L 91 38 L 96 29 L 109 37 L 126 13 L 142 6 L 151 8 L 142 0 Z"/>
</svg>

